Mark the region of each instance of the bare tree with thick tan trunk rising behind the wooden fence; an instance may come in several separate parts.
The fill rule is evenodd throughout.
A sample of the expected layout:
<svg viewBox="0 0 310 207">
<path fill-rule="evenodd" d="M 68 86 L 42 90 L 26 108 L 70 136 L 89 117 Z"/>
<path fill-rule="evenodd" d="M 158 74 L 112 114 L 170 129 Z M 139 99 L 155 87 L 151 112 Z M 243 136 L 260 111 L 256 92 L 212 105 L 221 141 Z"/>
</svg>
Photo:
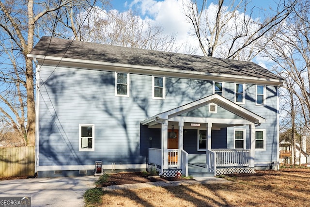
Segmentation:
<svg viewBox="0 0 310 207">
<path fill-rule="evenodd" d="M 27 54 L 36 37 L 46 32 L 54 36 L 74 36 L 64 30 L 78 31 L 77 24 L 70 18 L 74 16 L 73 11 L 83 11 L 94 2 L 96 0 L 0 1 L 0 52 L 1 57 L 7 57 L 0 65 L 0 112 L 27 145 L 35 143 L 34 72 Z"/>
</svg>

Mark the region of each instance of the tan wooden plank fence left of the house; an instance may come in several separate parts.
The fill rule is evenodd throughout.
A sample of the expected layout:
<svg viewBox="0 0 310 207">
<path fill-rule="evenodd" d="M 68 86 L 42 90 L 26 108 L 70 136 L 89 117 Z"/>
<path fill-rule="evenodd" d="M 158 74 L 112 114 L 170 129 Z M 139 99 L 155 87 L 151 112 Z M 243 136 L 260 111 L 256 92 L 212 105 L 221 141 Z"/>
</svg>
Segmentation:
<svg viewBox="0 0 310 207">
<path fill-rule="evenodd" d="M 0 177 L 34 175 L 34 146 L 0 148 Z"/>
</svg>

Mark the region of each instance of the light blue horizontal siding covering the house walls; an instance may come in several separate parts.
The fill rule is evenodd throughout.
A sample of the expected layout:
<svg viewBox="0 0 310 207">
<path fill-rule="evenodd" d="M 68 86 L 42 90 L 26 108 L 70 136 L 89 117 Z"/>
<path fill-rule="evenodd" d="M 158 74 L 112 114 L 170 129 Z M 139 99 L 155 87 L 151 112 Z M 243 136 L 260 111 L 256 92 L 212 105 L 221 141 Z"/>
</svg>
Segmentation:
<svg viewBox="0 0 310 207">
<path fill-rule="evenodd" d="M 95 160 L 103 164 L 146 163 L 147 148 L 160 147 L 161 131 L 140 126 L 140 121 L 213 94 L 211 80 L 166 77 L 166 99 L 152 99 L 152 76 L 140 74 L 130 74 L 129 87 L 129 97 L 115 96 L 114 72 L 42 66 L 37 94 L 39 165 L 89 165 Z M 256 106 L 255 85 L 247 84 L 247 101 L 242 105 L 267 120 L 258 127 L 266 130 L 266 150 L 256 152 L 258 162 L 274 160 L 277 155 L 277 88 L 267 86 L 266 96 L 266 105 Z M 225 97 L 234 101 L 233 82 L 225 82 Z M 217 114 L 208 111 L 206 106 L 186 115 L 240 118 L 221 107 Z M 78 150 L 79 124 L 94 125 L 94 151 Z M 248 139 L 248 126 L 244 128 Z M 213 144 L 232 148 L 232 131 L 233 127 L 221 131 L 221 138 Z M 197 153 L 197 130 L 195 139 L 184 141 L 184 148 Z"/>
</svg>

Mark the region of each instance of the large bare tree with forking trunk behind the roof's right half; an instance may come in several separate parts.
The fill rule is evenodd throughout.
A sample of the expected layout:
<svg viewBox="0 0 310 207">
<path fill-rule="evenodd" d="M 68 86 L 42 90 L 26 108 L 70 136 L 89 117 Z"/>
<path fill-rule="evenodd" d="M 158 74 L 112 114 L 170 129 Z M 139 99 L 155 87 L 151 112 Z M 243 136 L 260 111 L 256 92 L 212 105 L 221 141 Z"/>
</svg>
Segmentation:
<svg viewBox="0 0 310 207">
<path fill-rule="evenodd" d="M 265 16 L 263 21 L 252 17 L 259 8 L 248 8 L 246 0 L 217 0 L 209 8 L 206 5 L 207 0 L 184 3 L 184 13 L 193 25 L 203 54 L 250 61 L 261 52 L 256 44 L 290 15 L 295 2 L 279 5 L 275 15 Z"/>
</svg>

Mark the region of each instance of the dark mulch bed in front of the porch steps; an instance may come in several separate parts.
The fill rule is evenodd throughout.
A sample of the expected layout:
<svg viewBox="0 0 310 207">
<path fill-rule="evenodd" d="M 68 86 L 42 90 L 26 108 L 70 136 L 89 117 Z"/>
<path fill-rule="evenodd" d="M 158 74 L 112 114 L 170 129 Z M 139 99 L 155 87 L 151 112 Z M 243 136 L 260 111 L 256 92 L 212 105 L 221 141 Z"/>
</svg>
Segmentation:
<svg viewBox="0 0 310 207">
<path fill-rule="evenodd" d="M 133 183 L 157 182 L 157 181 L 176 181 L 176 180 L 189 180 L 189 179 L 184 178 L 184 177 L 150 176 L 150 175 L 145 175 L 142 172 L 117 173 L 117 174 L 109 174 L 108 181 L 98 187 L 106 187 L 110 185 L 133 184 Z"/>
</svg>

